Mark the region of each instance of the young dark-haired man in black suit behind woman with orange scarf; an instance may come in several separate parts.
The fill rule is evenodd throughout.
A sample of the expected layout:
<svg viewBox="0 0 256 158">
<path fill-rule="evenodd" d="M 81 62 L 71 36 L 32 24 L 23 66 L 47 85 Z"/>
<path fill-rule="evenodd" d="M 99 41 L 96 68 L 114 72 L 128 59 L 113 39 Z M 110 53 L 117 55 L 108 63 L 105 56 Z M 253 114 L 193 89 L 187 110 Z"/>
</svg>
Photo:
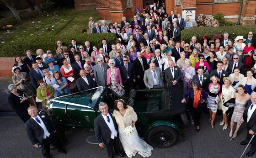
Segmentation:
<svg viewBox="0 0 256 158">
<path fill-rule="evenodd" d="M 207 74 L 203 74 L 203 69 L 204 68 L 202 66 L 197 68 L 198 74 L 193 76 L 192 83 L 197 81 L 199 88 L 206 90 L 208 88 L 207 85 L 210 82 L 210 78 Z"/>
</svg>

